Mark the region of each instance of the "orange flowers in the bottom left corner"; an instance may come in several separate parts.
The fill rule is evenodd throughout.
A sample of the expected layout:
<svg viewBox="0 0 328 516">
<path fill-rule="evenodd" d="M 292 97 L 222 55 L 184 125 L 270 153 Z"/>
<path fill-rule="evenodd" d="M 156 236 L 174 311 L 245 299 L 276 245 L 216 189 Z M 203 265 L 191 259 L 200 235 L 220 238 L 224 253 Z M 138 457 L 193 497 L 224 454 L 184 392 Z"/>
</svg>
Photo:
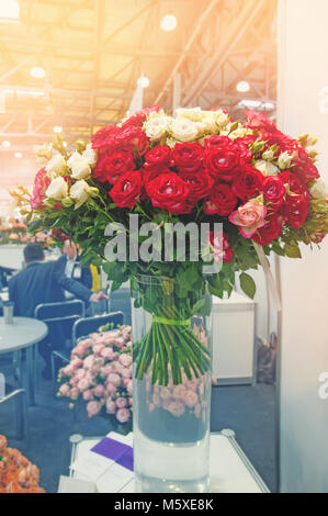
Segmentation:
<svg viewBox="0 0 328 516">
<path fill-rule="evenodd" d="M 44 493 L 39 472 L 19 450 L 7 447 L 0 435 L 0 493 Z"/>
</svg>

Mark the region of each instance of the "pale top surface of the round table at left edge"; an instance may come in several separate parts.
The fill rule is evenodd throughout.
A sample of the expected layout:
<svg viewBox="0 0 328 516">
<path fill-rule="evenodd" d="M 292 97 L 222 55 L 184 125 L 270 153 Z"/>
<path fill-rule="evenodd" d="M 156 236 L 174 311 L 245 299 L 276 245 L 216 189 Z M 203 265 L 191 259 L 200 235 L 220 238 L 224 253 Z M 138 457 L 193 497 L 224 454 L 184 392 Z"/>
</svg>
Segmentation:
<svg viewBox="0 0 328 516">
<path fill-rule="evenodd" d="M 30 317 L 14 317 L 13 324 L 4 324 L 0 317 L 0 355 L 33 346 L 48 333 L 47 325 Z"/>
</svg>

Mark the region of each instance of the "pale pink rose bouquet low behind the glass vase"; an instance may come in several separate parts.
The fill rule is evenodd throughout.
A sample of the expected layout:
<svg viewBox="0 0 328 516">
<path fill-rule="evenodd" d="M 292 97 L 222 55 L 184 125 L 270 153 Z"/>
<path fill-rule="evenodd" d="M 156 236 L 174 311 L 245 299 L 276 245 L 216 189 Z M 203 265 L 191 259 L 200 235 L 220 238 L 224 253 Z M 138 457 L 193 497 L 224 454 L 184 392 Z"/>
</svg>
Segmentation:
<svg viewBox="0 0 328 516">
<path fill-rule="evenodd" d="M 132 423 L 131 327 L 102 330 L 79 340 L 59 370 L 58 396 L 87 402 L 89 417 L 102 415 L 124 431 Z"/>
</svg>

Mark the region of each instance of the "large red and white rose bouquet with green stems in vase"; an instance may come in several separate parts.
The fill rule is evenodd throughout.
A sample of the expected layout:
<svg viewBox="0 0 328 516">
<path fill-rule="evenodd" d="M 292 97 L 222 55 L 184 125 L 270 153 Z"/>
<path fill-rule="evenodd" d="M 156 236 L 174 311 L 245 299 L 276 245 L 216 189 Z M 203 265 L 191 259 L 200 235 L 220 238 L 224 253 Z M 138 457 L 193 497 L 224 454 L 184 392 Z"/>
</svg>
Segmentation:
<svg viewBox="0 0 328 516">
<path fill-rule="evenodd" d="M 135 345 L 139 379 L 151 368 L 152 382 L 167 384 L 168 364 L 174 383 L 181 369 L 189 378 L 206 371 L 208 350 L 180 324 L 208 313 L 204 292 L 230 294 L 239 276 L 253 296 L 247 271 L 263 263 L 264 254 L 301 258 L 299 243 L 319 244 L 328 232 L 315 138 L 294 139 L 262 113 L 245 115 L 244 123 L 234 122 L 224 109 L 194 108 L 170 116 L 154 105 L 101 128 L 88 145 L 78 142 L 70 154 L 60 141 L 37 150 L 44 166 L 30 199 L 30 229 L 64 232 L 86 261 L 103 267 L 113 289 L 132 280 L 136 305 L 154 315 L 149 333 Z M 148 234 L 132 231 L 132 215 L 137 229 L 148 225 Z M 168 258 L 165 244 L 180 223 L 200 231 L 207 224 L 206 238 L 194 254 L 201 238 L 190 236 L 182 259 L 173 240 Z M 122 238 L 126 248 L 115 259 Z M 222 267 L 205 276 L 204 259 Z M 167 280 L 150 289 L 135 281 L 140 274 Z M 178 324 L 166 324 L 173 319 Z"/>
</svg>

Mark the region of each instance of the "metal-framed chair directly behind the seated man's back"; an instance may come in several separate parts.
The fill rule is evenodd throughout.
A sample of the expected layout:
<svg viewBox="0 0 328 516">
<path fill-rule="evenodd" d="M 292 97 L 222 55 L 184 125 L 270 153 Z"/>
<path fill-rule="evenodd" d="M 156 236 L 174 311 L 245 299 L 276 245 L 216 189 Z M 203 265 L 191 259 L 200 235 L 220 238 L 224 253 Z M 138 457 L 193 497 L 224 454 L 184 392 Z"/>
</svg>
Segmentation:
<svg viewBox="0 0 328 516">
<path fill-rule="evenodd" d="M 69 325 L 69 329 L 71 333 L 71 326 L 75 324 L 77 319 L 80 317 L 84 317 L 86 315 L 86 304 L 81 300 L 69 300 L 63 301 L 59 303 L 43 303 L 38 304 L 34 311 L 35 318 L 43 321 L 49 327 L 49 334 L 52 335 L 52 329 L 56 327 L 56 325 L 60 325 L 63 329 L 63 335 L 67 334 L 65 332 L 65 325 Z M 65 340 L 65 337 L 63 337 Z M 71 344 L 70 344 L 71 348 Z M 63 343 L 63 349 L 54 349 L 52 351 L 52 373 L 53 380 L 56 377 L 56 361 L 57 360 L 69 360 L 70 349 L 65 349 L 65 341 Z M 35 361 L 36 362 L 36 361 Z"/>
</svg>

